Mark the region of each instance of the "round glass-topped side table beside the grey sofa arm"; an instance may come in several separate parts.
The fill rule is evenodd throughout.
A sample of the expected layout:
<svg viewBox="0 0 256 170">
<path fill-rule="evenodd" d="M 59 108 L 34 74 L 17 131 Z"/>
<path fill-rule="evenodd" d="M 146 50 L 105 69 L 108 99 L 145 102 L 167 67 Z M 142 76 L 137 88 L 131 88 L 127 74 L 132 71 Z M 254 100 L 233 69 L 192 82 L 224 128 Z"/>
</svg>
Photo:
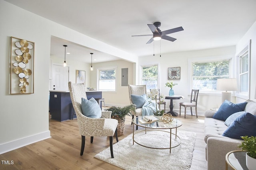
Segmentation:
<svg viewBox="0 0 256 170">
<path fill-rule="evenodd" d="M 228 152 L 226 154 L 226 170 L 228 170 L 228 166 L 234 170 L 248 170 L 245 154 L 246 151 L 242 150 L 233 150 Z"/>
</svg>

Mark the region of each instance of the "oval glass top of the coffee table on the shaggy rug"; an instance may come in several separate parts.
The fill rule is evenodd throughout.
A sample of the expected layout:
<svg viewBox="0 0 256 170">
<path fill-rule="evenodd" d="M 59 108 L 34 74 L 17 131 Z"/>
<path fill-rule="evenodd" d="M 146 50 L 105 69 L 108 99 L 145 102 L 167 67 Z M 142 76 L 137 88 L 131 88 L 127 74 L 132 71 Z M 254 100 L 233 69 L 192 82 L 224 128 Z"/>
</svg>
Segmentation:
<svg viewBox="0 0 256 170">
<path fill-rule="evenodd" d="M 154 123 L 141 124 L 138 120 L 141 120 L 142 116 L 135 117 L 132 119 L 132 123 L 138 125 L 140 127 L 152 128 L 152 129 L 173 129 L 180 127 L 182 125 L 182 121 L 179 119 L 173 118 L 171 123 L 163 123 L 162 120 L 156 121 Z"/>
</svg>

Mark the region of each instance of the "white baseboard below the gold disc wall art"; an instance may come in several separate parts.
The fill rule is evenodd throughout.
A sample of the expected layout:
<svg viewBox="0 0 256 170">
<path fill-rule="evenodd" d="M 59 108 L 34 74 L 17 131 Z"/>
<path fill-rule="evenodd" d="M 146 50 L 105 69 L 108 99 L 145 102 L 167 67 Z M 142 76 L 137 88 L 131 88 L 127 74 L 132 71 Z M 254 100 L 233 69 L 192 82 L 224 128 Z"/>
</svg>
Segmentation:
<svg viewBox="0 0 256 170">
<path fill-rule="evenodd" d="M 44 139 L 51 138 L 50 131 L 45 131 L 42 133 L 38 133 L 36 135 L 24 137 L 22 139 L 17 139 L 15 141 L 10 141 L 8 143 L 0 144 L 0 154 L 9 152 L 11 150 L 15 150 L 26 145 L 30 145 L 32 143 L 36 143 L 38 141 L 42 141 Z"/>
</svg>

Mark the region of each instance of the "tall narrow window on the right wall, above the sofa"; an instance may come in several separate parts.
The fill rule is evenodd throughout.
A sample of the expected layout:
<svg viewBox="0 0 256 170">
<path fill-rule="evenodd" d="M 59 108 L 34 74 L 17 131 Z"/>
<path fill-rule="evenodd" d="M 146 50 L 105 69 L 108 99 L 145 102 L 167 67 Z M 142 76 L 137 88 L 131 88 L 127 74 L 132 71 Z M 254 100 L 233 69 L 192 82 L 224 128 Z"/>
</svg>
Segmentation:
<svg viewBox="0 0 256 170">
<path fill-rule="evenodd" d="M 236 96 L 243 99 L 250 98 L 250 45 L 251 41 L 238 55 L 236 55 L 238 64 L 237 67 L 239 68 L 237 71 L 239 83 L 238 92 L 236 93 Z"/>
</svg>

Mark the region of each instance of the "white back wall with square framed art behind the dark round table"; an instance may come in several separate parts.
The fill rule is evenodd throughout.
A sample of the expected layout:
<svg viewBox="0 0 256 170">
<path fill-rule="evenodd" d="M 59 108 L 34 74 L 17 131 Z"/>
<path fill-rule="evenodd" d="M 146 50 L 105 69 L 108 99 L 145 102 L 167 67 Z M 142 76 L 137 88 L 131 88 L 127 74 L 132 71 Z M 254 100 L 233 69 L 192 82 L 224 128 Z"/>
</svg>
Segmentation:
<svg viewBox="0 0 256 170">
<path fill-rule="evenodd" d="M 180 53 L 169 53 L 169 54 L 162 54 L 162 57 L 159 55 L 155 56 L 146 56 L 140 57 L 138 65 L 145 65 L 145 64 L 159 64 L 160 66 L 160 91 L 168 95 L 169 89 L 168 87 L 164 87 L 166 81 L 168 80 L 168 68 L 169 67 L 180 67 L 180 80 L 173 80 L 174 82 L 178 83 L 178 85 L 174 86 L 174 94 L 184 96 L 185 99 L 181 100 L 173 100 L 176 107 L 174 110 L 179 111 L 179 103 L 180 102 L 189 102 L 190 101 L 190 82 L 188 76 L 188 60 L 192 58 L 199 58 L 199 57 L 207 57 L 207 58 L 215 58 L 221 56 L 235 56 L 235 46 L 230 47 L 221 47 L 215 49 L 205 49 L 205 50 L 198 50 L 198 51 L 186 51 Z M 200 91 L 199 91 L 200 92 Z M 169 108 L 170 100 L 166 100 L 167 108 Z M 233 98 L 233 101 L 235 99 Z M 212 107 L 219 107 L 221 104 L 221 95 L 204 95 L 199 94 L 198 96 L 198 115 L 203 115 L 207 109 Z M 162 106 L 161 106 L 162 107 Z M 182 107 L 184 110 L 184 107 Z M 190 109 L 189 109 L 190 110 Z M 184 111 L 182 111 L 184 113 Z M 189 113 L 189 112 L 188 112 Z"/>
</svg>

